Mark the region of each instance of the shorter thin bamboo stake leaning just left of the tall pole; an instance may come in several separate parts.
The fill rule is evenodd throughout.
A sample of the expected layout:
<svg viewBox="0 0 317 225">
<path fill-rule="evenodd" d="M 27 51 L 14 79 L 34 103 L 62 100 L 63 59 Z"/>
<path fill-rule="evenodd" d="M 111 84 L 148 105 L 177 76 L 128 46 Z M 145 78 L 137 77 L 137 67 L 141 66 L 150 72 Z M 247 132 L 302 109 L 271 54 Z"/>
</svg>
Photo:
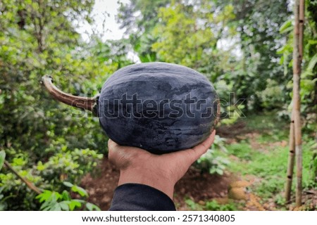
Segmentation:
<svg viewBox="0 0 317 225">
<path fill-rule="evenodd" d="M 287 178 L 285 187 L 285 200 L 287 203 L 290 202 L 290 193 L 292 190 L 293 181 L 293 171 L 295 162 L 295 137 L 294 137 L 294 113 L 292 112 L 291 122 L 290 122 L 290 152 L 288 155 L 287 162 Z"/>
</svg>

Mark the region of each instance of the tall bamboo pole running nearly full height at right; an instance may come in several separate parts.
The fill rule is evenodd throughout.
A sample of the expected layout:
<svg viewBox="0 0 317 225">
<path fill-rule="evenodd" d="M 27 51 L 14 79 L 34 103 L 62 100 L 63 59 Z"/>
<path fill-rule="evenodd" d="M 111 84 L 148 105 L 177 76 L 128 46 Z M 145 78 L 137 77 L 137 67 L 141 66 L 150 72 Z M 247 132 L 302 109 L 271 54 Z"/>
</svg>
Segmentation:
<svg viewBox="0 0 317 225">
<path fill-rule="evenodd" d="M 300 121 L 300 75 L 303 57 L 304 0 L 295 0 L 294 5 L 294 49 L 293 49 L 293 113 L 296 155 L 296 205 L 302 205 L 302 125 Z M 290 137 L 292 139 L 292 137 Z"/>
</svg>

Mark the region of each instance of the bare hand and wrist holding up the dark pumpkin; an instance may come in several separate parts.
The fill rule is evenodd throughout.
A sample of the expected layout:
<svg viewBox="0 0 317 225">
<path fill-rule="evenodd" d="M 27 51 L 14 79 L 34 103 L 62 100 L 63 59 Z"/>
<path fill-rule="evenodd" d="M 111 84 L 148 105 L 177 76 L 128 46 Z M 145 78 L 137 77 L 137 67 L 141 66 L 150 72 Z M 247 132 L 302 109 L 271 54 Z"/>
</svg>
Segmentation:
<svg viewBox="0 0 317 225">
<path fill-rule="evenodd" d="M 154 155 L 141 148 L 119 146 L 108 141 L 108 159 L 120 169 L 118 185 L 145 184 L 166 193 L 173 199 L 176 182 L 185 175 L 190 165 L 209 149 L 216 131 L 198 146 L 175 153 Z"/>
</svg>

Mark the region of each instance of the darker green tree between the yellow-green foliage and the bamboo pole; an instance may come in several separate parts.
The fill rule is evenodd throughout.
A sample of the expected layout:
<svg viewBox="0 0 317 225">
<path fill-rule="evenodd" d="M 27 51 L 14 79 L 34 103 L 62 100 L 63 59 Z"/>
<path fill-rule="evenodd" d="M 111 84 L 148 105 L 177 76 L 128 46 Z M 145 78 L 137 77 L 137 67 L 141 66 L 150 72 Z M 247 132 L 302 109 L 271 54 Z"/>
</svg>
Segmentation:
<svg viewBox="0 0 317 225">
<path fill-rule="evenodd" d="M 247 98 L 249 110 L 280 108 L 290 97 L 286 94 L 290 75 L 283 73 L 277 53 L 285 36 L 280 34 L 282 23 L 291 14 L 287 0 L 228 0 L 235 6 L 235 23 L 240 36 L 242 60 L 235 68 L 233 89 L 238 98 Z M 269 8 L 269 10 L 268 10 Z M 278 98 L 276 98 L 278 96 Z"/>
</svg>

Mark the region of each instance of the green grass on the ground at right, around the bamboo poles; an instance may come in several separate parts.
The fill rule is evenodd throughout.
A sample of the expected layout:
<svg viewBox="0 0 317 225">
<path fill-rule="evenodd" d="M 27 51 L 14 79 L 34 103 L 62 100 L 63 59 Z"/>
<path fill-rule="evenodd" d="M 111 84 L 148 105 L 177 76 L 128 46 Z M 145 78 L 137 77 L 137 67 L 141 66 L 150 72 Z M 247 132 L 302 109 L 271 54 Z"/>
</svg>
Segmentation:
<svg viewBox="0 0 317 225">
<path fill-rule="evenodd" d="M 241 176 L 242 179 L 255 178 L 254 183 L 248 188 L 251 193 L 261 198 L 259 203 L 264 205 L 264 203 L 273 202 L 278 210 L 287 210 L 283 191 L 289 154 L 289 123 L 278 119 L 274 112 L 251 115 L 240 120 L 246 124 L 239 137 L 242 140 L 223 145 L 226 153 L 221 156 L 228 158 L 228 155 L 231 155 L 227 169 L 233 174 Z M 303 188 L 317 188 L 315 181 L 317 143 L 305 132 L 303 131 L 302 137 Z M 246 133 L 248 135 L 245 135 Z M 244 135 L 245 137 L 243 137 Z M 294 194 L 296 174 L 293 177 L 292 193 Z M 245 203 L 237 200 L 232 200 L 225 205 L 217 203 L 216 200 L 204 202 L 204 205 L 194 203 L 191 199 L 185 200 L 185 203 L 190 210 L 242 210 L 246 207 Z"/>
</svg>

